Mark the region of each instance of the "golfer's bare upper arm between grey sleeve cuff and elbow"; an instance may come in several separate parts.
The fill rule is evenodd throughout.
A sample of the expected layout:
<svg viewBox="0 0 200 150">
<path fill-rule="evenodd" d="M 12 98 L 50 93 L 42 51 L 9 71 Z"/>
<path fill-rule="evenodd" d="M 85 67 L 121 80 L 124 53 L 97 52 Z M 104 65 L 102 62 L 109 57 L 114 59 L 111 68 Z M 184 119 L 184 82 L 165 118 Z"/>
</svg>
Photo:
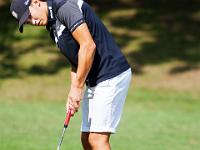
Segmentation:
<svg viewBox="0 0 200 150">
<path fill-rule="evenodd" d="M 92 46 L 95 45 L 93 38 L 90 34 L 88 26 L 86 23 L 81 24 L 78 26 L 73 32 L 73 37 L 79 43 L 80 46 Z"/>
</svg>

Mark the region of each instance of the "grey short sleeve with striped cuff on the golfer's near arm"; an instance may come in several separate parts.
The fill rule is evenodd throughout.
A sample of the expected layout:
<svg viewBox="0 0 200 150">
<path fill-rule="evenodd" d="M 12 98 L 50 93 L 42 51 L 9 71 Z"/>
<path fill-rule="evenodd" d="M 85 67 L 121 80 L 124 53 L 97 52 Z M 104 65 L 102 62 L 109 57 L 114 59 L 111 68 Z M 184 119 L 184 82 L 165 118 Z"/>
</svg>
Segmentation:
<svg viewBox="0 0 200 150">
<path fill-rule="evenodd" d="M 59 21 L 73 32 L 84 23 L 81 5 L 77 0 L 68 0 L 57 12 Z"/>
</svg>

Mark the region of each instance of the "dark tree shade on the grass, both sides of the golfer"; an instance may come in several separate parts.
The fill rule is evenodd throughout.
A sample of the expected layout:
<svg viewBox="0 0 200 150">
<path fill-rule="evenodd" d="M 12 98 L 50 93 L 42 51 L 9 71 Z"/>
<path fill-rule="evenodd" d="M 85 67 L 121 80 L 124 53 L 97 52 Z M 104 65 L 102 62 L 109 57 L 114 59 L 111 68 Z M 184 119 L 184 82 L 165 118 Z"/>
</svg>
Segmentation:
<svg viewBox="0 0 200 150">
<path fill-rule="evenodd" d="M 125 53 L 136 73 L 143 73 L 146 65 L 157 65 L 171 61 L 181 61 L 184 66 L 175 66 L 169 73 L 182 73 L 199 69 L 200 64 L 200 5 L 195 0 L 147 1 L 95 1 L 94 8 L 102 20 L 110 23 L 112 34 L 117 43 L 126 50 L 127 47 L 145 35 L 137 36 L 135 32 L 149 33 L 153 41 L 143 41 L 139 47 L 130 48 Z M 94 4 L 94 2 L 93 2 Z M 108 4 L 108 5 L 107 5 Z M 18 60 L 38 49 L 54 53 L 56 47 L 50 41 L 47 32 L 34 34 L 31 30 L 23 36 L 17 33 L 17 25 L 9 14 L 9 2 L 0 5 L 0 78 L 22 77 L 21 74 L 55 74 L 67 66 L 61 55 L 49 59 L 46 65 L 33 64 L 22 68 Z M 114 11 L 133 10 L 132 14 L 118 14 L 109 18 Z M 133 12 L 132 11 L 132 12 Z M 126 12 L 125 12 L 126 13 Z M 119 32 L 125 30 L 126 32 Z M 24 47 L 16 43 L 31 41 Z M 33 42 L 33 40 L 35 42 Z M 34 58 L 33 58 L 34 59 Z"/>
</svg>

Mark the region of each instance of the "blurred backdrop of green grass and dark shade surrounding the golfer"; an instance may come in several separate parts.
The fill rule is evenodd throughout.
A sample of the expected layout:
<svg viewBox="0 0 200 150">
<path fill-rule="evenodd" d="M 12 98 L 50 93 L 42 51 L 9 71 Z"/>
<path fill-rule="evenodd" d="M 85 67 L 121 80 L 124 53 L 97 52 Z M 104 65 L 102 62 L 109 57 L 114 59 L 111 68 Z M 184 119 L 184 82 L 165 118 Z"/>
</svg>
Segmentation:
<svg viewBox="0 0 200 150">
<path fill-rule="evenodd" d="M 88 0 L 133 69 L 114 150 L 200 149 L 200 1 Z M 18 32 L 0 0 L 0 149 L 56 149 L 69 64 L 45 27 Z M 81 149 L 81 110 L 63 149 Z"/>
</svg>

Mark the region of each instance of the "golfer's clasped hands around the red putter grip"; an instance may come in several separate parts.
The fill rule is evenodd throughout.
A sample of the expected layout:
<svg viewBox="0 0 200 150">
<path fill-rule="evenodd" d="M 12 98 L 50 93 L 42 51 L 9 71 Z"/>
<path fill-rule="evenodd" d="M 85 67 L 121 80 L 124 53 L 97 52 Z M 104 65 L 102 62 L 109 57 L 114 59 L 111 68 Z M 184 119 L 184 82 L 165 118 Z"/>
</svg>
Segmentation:
<svg viewBox="0 0 200 150">
<path fill-rule="evenodd" d="M 69 109 L 68 107 L 70 107 L 72 116 L 75 114 L 75 112 L 78 111 L 80 102 L 82 100 L 82 96 L 83 96 L 83 88 L 71 86 L 67 99 L 67 111 Z"/>
</svg>

